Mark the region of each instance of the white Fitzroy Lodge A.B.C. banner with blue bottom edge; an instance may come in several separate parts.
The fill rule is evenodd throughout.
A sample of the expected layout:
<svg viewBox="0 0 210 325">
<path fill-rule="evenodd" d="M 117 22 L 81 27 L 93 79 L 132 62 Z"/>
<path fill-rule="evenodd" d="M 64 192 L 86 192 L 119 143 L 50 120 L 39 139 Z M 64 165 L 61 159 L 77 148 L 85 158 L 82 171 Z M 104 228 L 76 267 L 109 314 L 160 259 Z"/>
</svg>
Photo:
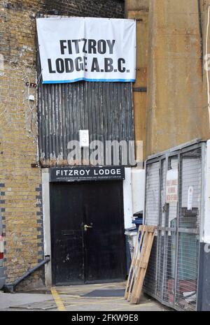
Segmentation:
<svg viewBox="0 0 210 325">
<path fill-rule="evenodd" d="M 50 17 L 36 25 L 43 83 L 135 81 L 134 20 Z"/>
</svg>

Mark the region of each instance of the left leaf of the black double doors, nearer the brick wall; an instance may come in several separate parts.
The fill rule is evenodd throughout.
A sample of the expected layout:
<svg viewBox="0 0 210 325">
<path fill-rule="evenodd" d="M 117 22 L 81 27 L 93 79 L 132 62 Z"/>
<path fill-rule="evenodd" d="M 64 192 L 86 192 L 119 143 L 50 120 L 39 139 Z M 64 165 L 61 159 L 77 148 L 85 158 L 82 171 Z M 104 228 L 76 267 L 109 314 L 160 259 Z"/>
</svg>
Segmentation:
<svg viewBox="0 0 210 325">
<path fill-rule="evenodd" d="M 78 185 L 50 184 L 53 284 L 84 281 L 82 194 Z"/>
</svg>

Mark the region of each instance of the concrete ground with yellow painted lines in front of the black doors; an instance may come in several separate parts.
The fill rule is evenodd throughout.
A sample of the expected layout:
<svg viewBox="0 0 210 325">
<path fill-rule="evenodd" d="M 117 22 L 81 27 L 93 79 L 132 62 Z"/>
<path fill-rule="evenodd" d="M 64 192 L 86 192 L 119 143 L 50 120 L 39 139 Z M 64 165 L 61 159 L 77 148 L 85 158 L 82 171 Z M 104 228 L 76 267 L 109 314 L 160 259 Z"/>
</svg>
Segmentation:
<svg viewBox="0 0 210 325">
<path fill-rule="evenodd" d="M 123 297 L 125 282 L 52 287 L 46 294 L 4 294 L 0 291 L 0 311 L 166 311 L 153 298 L 141 296 L 139 305 L 130 305 Z M 37 293 L 36 293 L 37 292 Z"/>
</svg>

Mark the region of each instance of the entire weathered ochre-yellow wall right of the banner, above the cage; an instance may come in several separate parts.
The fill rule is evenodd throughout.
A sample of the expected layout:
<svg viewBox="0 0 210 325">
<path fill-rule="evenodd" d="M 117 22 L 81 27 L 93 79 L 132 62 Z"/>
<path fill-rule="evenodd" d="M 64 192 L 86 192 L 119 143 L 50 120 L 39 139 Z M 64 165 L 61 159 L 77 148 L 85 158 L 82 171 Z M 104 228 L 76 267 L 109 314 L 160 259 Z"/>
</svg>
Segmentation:
<svg viewBox="0 0 210 325">
<path fill-rule="evenodd" d="M 144 20 L 137 22 L 136 84 L 147 85 L 147 96 L 134 92 L 135 135 L 136 140 L 145 142 L 144 157 L 195 138 L 210 137 L 202 62 L 209 3 L 126 1 L 127 17 L 144 15 Z"/>
</svg>

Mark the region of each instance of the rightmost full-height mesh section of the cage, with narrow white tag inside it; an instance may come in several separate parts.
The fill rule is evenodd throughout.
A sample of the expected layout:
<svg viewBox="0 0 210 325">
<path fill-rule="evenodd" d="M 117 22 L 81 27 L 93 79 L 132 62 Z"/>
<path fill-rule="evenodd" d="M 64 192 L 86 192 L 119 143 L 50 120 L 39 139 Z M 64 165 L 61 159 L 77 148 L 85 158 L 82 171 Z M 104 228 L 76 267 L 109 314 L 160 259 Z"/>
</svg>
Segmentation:
<svg viewBox="0 0 210 325">
<path fill-rule="evenodd" d="M 176 305 L 195 310 L 199 258 L 202 161 L 201 149 L 181 154 Z"/>
</svg>

